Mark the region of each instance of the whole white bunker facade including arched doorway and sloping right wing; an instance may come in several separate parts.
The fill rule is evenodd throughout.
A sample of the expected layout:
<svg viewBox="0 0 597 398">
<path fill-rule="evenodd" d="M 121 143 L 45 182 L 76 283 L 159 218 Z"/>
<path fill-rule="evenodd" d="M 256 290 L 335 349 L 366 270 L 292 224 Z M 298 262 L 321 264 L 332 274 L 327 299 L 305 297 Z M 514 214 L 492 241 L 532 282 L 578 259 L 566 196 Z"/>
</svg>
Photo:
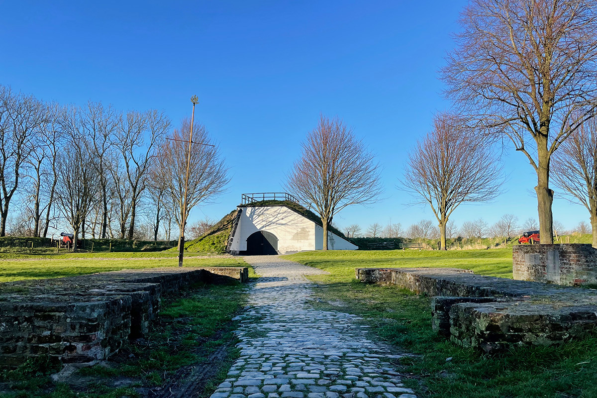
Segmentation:
<svg viewBox="0 0 597 398">
<path fill-rule="evenodd" d="M 288 206 L 239 206 L 232 231 L 232 254 L 292 254 L 323 249 L 324 230 Z M 356 250 L 358 246 L 328 231 L 328 249 Z"/>
</svg>

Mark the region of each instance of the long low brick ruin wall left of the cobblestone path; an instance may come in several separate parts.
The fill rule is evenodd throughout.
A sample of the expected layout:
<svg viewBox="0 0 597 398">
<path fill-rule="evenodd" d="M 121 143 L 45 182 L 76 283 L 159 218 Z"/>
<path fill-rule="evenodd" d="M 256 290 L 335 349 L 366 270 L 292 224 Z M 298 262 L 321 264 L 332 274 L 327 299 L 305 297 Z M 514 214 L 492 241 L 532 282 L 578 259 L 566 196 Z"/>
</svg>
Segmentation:
<svg viewBox="0 0 597 398">
<path fill-rule="evenodd" d="M 0 366 L 49 356 L 93 364 L 143 337 L 161 298 L 195 283 L 247 282 L 247 267 L 161 268 L 0 283 Z"/>
</svg>

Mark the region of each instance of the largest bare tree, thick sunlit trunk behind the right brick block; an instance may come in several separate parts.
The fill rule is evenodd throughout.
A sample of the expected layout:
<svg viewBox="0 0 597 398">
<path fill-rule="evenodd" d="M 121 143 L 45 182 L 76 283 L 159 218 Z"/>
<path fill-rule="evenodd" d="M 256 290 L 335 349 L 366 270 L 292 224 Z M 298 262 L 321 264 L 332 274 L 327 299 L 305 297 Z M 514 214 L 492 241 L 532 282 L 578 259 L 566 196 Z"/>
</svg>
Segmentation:
<svg viewBox="0 0 597 398">
<path fill-rule="evenodd" d="M 459 109 L 536 171 L 541 243 L 553 243 L 551 157 L 597 106 L 596 9 L 596 0 L 472 0 L 442 70 Z"/>
</svg>

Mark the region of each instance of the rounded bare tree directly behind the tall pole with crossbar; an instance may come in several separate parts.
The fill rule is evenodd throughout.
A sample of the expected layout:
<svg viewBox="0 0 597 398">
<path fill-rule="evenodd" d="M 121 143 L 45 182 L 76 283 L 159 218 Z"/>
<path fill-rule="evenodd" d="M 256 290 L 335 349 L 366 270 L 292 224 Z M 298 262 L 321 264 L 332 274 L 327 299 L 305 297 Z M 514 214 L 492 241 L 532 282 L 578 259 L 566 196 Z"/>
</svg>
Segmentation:
<svg viewBox="0 0 597 398">
<path fill-rule="evenodd" d="M 229 183 L 228 168 L 216 146 L 192 145 L 190 150 L 189 189 L 184 200 L 184 177 L 187 168 L 190 121 L 184 119 L 179 128 L 170 134 L 171 140 L 162 142 L 159 156 L 152 168 L 152 180 L 156 187 L 164 191 L 168 202 L 176 209 L 176 220 L 180 232 L 183 231 L 183 215 L 186 220 L 189 212 L 199 203 L 209 202 L 224 192 Z M 211 144 L 207 130 L 201 124 L 193 126 L 193 141 Z M 186 203 L 186 208 L 184 206 Z"/>
</svg>

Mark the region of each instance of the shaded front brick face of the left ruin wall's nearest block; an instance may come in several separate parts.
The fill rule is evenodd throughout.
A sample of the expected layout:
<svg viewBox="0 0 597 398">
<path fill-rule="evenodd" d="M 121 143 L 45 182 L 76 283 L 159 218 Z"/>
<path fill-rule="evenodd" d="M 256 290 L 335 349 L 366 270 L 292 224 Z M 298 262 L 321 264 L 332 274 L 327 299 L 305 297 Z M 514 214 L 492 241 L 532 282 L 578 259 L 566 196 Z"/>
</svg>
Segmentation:
<svg viewBox="0 0 597 398">
<path fill-rule="evenodd" d="M 5 297 L 3 297 L 4 299 Z M 31 356 L 90 363 L 118 351 L 130 332 L 130 297 L 13 296 L 0 301 L 0 363 Z"/>
</svg>

